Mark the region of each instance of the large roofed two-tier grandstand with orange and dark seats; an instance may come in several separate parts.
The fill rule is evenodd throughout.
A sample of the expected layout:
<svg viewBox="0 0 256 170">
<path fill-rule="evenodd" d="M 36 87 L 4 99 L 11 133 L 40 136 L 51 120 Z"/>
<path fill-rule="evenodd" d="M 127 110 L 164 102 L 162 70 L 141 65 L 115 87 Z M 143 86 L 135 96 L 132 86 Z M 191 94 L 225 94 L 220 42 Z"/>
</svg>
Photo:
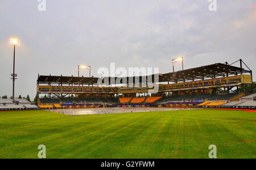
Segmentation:
<svg viewBox="0 0 256 170">
<path fill-rule="evenodd" d="M 244 105 L 248 96 L 235 92 L 239 87 L 251 86 L 252 71 L 225 63 L 196 67 L 173 73 L 117 77 L 77 77 L 38 75 L 37 95 L 40 108 L 87 108 L 87 107 L 126 107 L 126 106 L 220 106 Z M 237 61 L 238 62 L 238 61 Z M 246 66 L 246 65 L 245 65 Z M 247 66 L 246 66 L 247 67 Z M 155 77 L 158 77 L 155 80 Z M 152 79 L 158 84 L 158 91 L 152 93 L 152 86 L 143 84 L 143 79 Z M 116 80 L 126 84 L 115 86 Z M 126 82 L 122 82 L 126 79 Z M 102 84 L 98 84 L 101 80 Z M 129 80 L 136 82 L 131 83 Z M 151 84 L 152 85 L 152 84 Z M 40 97 L 44 95 L 44 97 Z M 255 99 L 255 95 L 249 96 Z M 251 103 L 250 103 L 251 104 Z M 252 104 L 254 105 L 254 104 Z"/>
</svg>

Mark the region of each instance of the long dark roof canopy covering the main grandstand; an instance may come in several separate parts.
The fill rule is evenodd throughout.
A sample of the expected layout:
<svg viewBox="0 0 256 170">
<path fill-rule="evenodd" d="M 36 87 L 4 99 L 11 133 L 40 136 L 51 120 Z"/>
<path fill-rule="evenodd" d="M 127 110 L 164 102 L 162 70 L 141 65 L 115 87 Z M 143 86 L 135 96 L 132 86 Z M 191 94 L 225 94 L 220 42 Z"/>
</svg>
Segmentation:
<svg viewBox="0 0 256 170">
<path fill-rule="evenodd" d="M 250 73 L 249 70 L 242 69 L 240 67 L 231 66 L 224 63 L 215 63 L 213 65 L 196 67 L 193 69 L 187 69 L 182 71 L 176 71 L 174 73 L 158 74 L 158 80 L 155 80 L 155 75 L 148 76 L 134 76 L 127 78 L 117 78 L 117 77 L 105 77 L 100 78 L 103 84 L 115 84 L 116 80 L 121 84 L 129 84 L 129 80 L 133 80 L 133 84 L 141 84 L 143 79 L 148 80 L 151 78 L 151 82 L 184 82 L 196 79 L 206 79 L 206 78 L 216 78 L 220 76 L 238 75 L 243 73 Z M 157 75 L 156 75 L 157 77 Z M 38 84 L 97 84 L 99 78 L 95 77 L 77 77 L 77 76 L 52 76 L 52 75 L 39 75 Z M 127 79 L 127 82 L 122 82 L 122 80 Z M 137 81 L 135 81 L 137 80 Z M 117 84 L 120 84 L 117 83 Z"/>
</svg>

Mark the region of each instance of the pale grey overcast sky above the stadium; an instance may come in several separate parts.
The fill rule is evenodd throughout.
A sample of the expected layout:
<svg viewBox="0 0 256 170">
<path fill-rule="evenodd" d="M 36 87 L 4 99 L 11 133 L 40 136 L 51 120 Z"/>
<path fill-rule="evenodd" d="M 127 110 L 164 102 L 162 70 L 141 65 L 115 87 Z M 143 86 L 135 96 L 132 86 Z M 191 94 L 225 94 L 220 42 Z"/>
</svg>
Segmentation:
<svg viewBox="0 0 256 170">
<path fill-rule="evenodd" d="M 172 71 L 171 59 L 184 56 L 185 69 L 242 58 L 256 78 L 254 0 L 0 0 L 0 96 L 11 96 L 13 46 L 15 95 L 36 94 L 40 75 L 77 75 L 77 65 L 159 67 Z M 176 65 L 176 69 L 181 69 Z M 81 71 L 88 76 L 88 72 Z"/>
</svg>

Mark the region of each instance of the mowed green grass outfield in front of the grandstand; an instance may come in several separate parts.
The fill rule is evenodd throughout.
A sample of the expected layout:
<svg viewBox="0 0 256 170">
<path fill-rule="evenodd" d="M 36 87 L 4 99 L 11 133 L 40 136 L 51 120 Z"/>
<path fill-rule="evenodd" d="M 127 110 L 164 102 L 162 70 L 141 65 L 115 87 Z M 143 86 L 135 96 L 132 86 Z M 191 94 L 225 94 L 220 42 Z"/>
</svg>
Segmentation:
<svg viewBox="0 0 256 170">
<path fill-rule="evenodd" d="M 256 112 L 195 109 L 67 116 L 0 112 L 0 158 L 255 158 Z"/>
</svg>

